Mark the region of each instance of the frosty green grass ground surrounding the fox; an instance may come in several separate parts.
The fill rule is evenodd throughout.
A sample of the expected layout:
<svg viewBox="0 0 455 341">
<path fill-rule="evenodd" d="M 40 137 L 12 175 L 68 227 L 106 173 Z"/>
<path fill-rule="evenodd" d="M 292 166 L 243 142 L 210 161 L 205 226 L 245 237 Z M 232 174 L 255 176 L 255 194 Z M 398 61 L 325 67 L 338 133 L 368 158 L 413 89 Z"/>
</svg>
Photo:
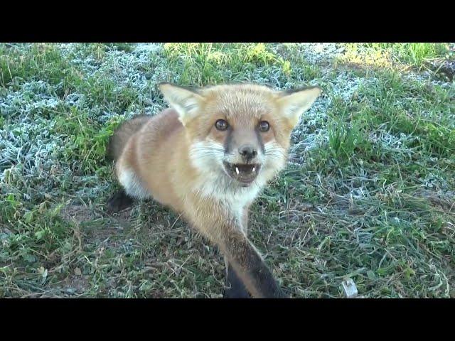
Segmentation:
<svg viewBox="0 0 455 341">
<path fill-rule="evenodd" d="M 158 82 L 323 95 L 250 238 L 294 298 L 455 297 L 454 44 L 0 44 L 0 296 L 218 298 L 218 250 L 154 202 L 109 215 L 105 159 Z"/>
</svg>

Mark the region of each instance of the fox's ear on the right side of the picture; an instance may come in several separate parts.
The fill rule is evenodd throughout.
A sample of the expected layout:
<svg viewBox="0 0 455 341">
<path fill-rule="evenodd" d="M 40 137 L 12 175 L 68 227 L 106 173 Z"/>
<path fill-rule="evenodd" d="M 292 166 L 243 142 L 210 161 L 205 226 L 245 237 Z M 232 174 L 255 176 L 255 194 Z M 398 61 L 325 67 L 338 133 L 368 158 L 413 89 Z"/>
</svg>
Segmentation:
<svg viewBox="0 0 455 341">
<path fill-rule="evenodd" d="M 311 107 L 321 94 L 320 87 L 306 87 L 300 90 L 282 91 L 277 103 L 287 119 L 295 126 L 301 114 Z"/>
</svg>

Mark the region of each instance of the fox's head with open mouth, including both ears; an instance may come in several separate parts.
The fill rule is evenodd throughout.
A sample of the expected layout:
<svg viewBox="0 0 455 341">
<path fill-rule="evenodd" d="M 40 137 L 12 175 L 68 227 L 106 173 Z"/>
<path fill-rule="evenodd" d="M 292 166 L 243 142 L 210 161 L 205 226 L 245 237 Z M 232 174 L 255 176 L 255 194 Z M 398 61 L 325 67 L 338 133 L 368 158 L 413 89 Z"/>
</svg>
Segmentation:
<svg viewBox="0 0 455 341">
<path fill-rule="evenodd" d="M 319 87 L 276 91 L 252 84 L 159 87 L 186 129 L 193 166 L 241 187 L 264 185 L 284 168 L 291 131 L 321 94 Z"/>
</svg>

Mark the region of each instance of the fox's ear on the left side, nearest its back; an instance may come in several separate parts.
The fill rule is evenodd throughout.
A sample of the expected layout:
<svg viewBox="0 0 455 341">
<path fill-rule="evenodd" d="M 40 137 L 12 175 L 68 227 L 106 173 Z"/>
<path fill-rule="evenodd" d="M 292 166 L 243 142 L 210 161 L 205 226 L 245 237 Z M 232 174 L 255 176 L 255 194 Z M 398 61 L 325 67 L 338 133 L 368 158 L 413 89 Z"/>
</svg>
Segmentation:
<svg viewBox="0 0 455 341">
<path fill-rule="evenodd" d="M 196 116 L 204 100 L 197 92 L 170 83 L 161 83 L 159 90 L 171 107 L 176 109 L 178 119 L 183 125 Z"/>
</svg>

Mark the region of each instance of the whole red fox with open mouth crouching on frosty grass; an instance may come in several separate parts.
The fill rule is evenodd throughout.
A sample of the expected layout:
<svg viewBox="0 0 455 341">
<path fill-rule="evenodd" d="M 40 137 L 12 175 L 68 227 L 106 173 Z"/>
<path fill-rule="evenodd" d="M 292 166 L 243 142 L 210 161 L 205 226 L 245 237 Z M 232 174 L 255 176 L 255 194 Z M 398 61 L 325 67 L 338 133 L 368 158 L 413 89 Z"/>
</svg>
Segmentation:
<svg viewBox="0 0 455 341">
<path fill-rule="evenodd" d="M 171 107 L 127 121 L 109 143 L 122 190 L 108 209 L 151 197 L 218 245 L 225 298 L 289 297 L 247 238 L 248 209 L 284 168 L 291 131 L 321 89 L 169 83 L 159 89 Z"/>
</svg>

